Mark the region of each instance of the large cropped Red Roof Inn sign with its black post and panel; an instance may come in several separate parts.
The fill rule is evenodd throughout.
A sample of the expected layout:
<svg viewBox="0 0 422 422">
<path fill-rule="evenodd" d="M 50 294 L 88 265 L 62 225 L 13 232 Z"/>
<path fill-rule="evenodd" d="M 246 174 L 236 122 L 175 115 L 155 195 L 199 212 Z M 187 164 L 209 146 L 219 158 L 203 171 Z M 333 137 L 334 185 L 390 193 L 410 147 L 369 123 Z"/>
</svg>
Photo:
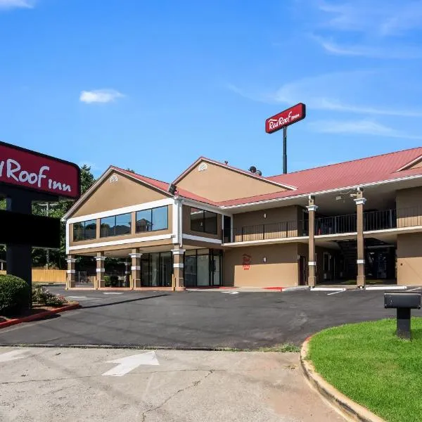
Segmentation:
<svg viewBox="0 0 422 422">
<path fill-rule="evenodd" d="M 32 215 L 32 203 L 79 198 L 79 166 L 0 142 L 0 196 L 6 197 L 0 243 L 6 244 L 7 273 L 31 285 L 32 247 L 60 247 L 60 220 Z"/>
</svg>

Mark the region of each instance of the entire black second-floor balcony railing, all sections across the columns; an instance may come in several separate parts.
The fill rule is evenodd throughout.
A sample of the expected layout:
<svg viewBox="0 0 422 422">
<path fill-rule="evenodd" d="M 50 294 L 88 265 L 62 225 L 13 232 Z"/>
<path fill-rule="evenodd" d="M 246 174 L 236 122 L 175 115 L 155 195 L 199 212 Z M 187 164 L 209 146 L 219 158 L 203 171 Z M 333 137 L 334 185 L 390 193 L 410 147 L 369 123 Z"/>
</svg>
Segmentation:
<svg viewBox="0 0 422 422">
<path fill-rule="evenodd" d="M 364 212 L 364 231 L 422 226 L 422 206 Z M 255 224 L 222 231 L 223 243 L 264 241 L 308 236 L 308 220 Z M 357 215 L 335 215 L 315 219 L 315 235 L 345 234 L 357 231 Z"/>
</svg>

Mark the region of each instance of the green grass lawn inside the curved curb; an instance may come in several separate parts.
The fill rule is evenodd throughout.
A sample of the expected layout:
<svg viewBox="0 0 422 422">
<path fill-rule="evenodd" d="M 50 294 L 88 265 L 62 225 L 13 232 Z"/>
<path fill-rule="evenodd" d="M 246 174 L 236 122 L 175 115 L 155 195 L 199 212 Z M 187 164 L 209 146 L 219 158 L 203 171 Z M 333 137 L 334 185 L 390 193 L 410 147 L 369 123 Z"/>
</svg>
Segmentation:
<svg viewBox="0 0 422 422">
<path fill-rule="evenodd" d="M 411 341 L 395 329 L 395 319 L 328 328 L 312 337 L 308 357 L 328 383 L 386 421 L 422 421 L 422 318 L 412 318 Z"/>
</svg>

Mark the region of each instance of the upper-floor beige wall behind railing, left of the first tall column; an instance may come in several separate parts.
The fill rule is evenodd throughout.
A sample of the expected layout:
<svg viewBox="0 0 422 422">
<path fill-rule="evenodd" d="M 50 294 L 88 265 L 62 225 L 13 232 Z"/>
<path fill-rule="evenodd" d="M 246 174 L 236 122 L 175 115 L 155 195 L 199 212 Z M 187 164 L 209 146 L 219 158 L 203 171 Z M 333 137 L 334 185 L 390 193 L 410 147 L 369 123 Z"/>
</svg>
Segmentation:
<svg viewBox="0 0 422 422">
<path fill-rule="evenodd" d="M 261 241 L 298 236 L 298 208 L 297 206 L 278 207 L 235 214 L 233 216 L 234 241 Z"/>
</svg>

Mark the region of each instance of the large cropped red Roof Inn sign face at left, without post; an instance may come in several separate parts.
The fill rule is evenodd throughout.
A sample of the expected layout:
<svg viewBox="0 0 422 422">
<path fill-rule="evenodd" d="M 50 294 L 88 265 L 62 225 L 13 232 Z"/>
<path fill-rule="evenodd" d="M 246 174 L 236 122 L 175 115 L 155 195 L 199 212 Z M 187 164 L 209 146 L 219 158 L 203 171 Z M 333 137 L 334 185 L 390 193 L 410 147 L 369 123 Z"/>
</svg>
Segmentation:
<svg viewBox="0 0 422 422">
<path fill-rule="evenodd" d="M 0 184 L 79 198 L 79 172 L 72 162 L 0 142 Z"/>
</svg>

